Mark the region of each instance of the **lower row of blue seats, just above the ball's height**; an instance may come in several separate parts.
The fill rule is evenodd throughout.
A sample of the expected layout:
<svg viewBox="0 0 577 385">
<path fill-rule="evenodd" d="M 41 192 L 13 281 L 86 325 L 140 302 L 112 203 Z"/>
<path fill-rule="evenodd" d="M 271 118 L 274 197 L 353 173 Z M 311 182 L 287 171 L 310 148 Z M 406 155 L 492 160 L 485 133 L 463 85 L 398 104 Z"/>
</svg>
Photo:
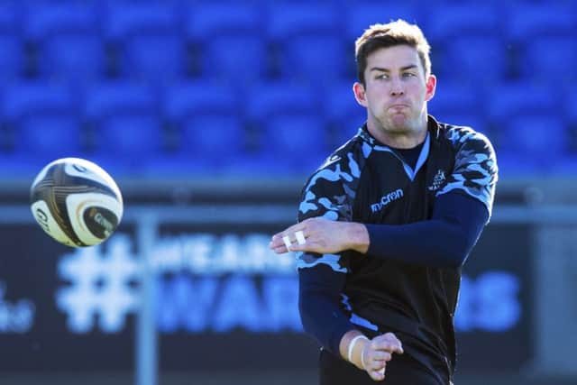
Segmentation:
<svg viewBox="0 0 577 385">
<path fill-rule="evenodd" d="M 487 133 L 504 160 L 531 154 L 514 166 L 537 170 L 577 155 L 577 92 L 563 94 L 565 109 L 558 95 L 505 84 L 480 100 L 470 87 L 440 84 L 429 112 Z M 22 84 L 2 93 L 0 159 L 15 165 L 6 170 L 36 168 L 62 154 L 112 161 L 111 170 L 132 174 L 145 159 L 163 175 L 169 171 L 162 165 L 177 173 L 206 164 L 204 170 L 310 170 L 356 132 L 364 114 L 350 83 L 322 94 L 286 82 L 248 90 L 196 82 L 162 93 L 122 82 L 85 92 Z"/>
</svg>

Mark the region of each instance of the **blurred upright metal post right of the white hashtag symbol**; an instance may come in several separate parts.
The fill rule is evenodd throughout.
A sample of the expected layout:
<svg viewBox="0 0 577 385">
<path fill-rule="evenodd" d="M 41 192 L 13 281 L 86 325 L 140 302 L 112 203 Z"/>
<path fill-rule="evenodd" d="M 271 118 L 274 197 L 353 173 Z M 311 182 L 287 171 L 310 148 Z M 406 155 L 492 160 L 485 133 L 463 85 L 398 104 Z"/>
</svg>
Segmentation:
<svg viewBox="0 0 577 385">
<path fill-rule="evenodd" d="M 158 231 L 158 218 L 146 210 L 137 219 L 138 251 L 142 260 L 141 306 L 136 325 L 136 385 L 156 385 L 158 341 L 155 322 L 155 276 L 151 253 Z"/>
</svg>

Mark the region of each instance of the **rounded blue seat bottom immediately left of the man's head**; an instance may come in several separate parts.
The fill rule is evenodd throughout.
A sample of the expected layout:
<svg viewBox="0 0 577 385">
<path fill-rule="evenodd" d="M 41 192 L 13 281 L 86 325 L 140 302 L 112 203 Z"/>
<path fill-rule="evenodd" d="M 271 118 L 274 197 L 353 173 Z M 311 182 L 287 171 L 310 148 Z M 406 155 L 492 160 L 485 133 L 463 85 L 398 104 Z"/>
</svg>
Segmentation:
<svg viewBox="0 0 577 385">
<path fill-rule="evenodd" d="M 338 36 L 289 39 L 282 44 L 279 55 L 281 76 L 322 83 L 334 81 L 354 73 L 348 67 L 352 57 L 353 51 L 346 52 L 344 41 Z"/>
</svg>

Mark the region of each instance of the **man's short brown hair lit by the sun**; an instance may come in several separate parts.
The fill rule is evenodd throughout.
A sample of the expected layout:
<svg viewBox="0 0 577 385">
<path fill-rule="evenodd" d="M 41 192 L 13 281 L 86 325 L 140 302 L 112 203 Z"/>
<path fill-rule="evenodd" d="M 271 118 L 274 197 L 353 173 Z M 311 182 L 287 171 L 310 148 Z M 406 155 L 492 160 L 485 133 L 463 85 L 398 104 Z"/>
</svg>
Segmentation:
<svg viewBox="0 0 577 385">
<path fill-rule="evenodd" d="M 418 57 L 425 69 L 425 77 L 431 74 L 431 47 L 425 35 L 415 24 L 397 20 L 386 24 L 373 24 L 366 29 L 354 43 L 354 56 L 357 62 L 357 76 L 365 85 L 364 70 L 367 68 L 367 57 L 380 48 L 396 45 L 408 45 L 417 49 Z"/>
</svg>

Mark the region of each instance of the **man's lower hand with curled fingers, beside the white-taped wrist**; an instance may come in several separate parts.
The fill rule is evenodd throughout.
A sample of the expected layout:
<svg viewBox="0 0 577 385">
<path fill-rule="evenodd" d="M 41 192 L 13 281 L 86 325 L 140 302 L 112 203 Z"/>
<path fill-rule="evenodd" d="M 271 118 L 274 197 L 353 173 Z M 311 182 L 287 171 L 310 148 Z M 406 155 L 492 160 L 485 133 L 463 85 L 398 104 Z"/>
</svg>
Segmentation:
<svg viewBox="0 0 577 385">
<path fill-rule="evenodd" d="M 362 366 L 372 380 L 385 379 L 387 362 L 392 359 L 392 353 L 403 353 L 403 345 L 392 333 L 377 335 L 362 347 Z"/>
</svg>

